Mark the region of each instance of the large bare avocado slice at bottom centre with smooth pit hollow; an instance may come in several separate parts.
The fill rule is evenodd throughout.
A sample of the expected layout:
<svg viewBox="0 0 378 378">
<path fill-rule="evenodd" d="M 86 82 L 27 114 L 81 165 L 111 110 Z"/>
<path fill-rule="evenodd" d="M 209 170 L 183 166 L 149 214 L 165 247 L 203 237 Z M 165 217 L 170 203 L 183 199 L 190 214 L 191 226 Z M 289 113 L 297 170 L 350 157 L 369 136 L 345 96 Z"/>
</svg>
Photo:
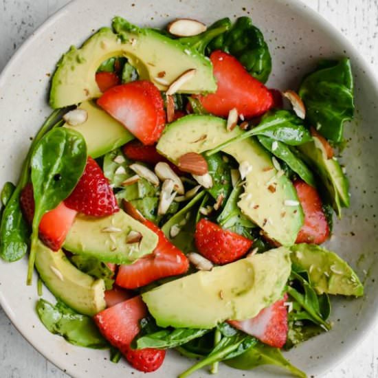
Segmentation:
<svg viewBox="0 0 378 378">
<path fill-rule="evenodd" d="M 291 271 L 289 249 L 255 254 L 212 271 L 197 271 L 142 294 L 162 327 L 212 329 L 253 318 L 282 297 Z"/>
</svg>

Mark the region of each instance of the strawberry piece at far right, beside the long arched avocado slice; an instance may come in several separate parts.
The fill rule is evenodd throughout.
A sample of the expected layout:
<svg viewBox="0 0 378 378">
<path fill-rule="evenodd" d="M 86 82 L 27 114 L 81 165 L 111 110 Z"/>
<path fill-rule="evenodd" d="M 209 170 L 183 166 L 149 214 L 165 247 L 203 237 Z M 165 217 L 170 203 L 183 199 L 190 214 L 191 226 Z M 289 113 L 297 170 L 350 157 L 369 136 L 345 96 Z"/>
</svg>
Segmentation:
<svg viewBox="0 0 378 378">
<path fill-rule="evenodd" d="M 329 225 L 318 192 L 302 180 L 296 180 L 293 184 L 304 212 L 304 225 L 296 243 L 324 243 L 329 237 Z"/>
</svg>

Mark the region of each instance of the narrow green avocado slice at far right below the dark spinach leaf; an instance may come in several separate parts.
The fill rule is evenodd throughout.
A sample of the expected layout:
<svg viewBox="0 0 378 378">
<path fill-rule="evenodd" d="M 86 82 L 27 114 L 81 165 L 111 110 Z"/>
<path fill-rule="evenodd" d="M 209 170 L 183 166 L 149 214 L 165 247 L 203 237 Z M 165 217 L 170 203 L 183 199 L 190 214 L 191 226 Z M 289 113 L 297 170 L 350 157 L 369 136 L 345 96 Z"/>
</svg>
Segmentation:
<svg viewBox="0 0 378 378">
<path fill-rule="evenodd" d="M 338 216 L 341 216 L 341 209 L 348 208 L 350 205 L 349 184 L 336 157 L 328 159 L 322 142 L 315 136 L 313 136 L 313 142 L 302 144 L 297 148 L 305 162 L 322 179 L 333 209 Z"/>
</svg>

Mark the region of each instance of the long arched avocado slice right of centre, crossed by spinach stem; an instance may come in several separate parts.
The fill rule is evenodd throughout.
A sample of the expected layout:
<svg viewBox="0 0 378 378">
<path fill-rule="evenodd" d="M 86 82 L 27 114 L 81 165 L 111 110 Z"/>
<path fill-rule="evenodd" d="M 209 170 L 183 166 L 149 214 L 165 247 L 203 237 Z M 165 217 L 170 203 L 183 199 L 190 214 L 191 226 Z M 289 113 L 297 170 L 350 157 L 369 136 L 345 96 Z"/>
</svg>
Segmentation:
<svg viewBox="0 0 378 378">
<path fill-rule="evenodd" d="M 203 153 L 242 133 L 237 127 L 227 131 L 225 120 L 212 115 L 187 115 L 166 127 L 157 150 L 177 163 L 185 153 Z M 271 155 L 254 137 L 225 146 L 222 151 L 239 164 L 248 162 L 252 166 L 245 178 L 245 192 L 238 201 L 243 214 L 269 238 L 293 245 L 303 225 L 303 212 L 291 181 L 278 174 Z M 275 192 L 268 189 L 271 184 L 276 184 Z"/>
</svg>

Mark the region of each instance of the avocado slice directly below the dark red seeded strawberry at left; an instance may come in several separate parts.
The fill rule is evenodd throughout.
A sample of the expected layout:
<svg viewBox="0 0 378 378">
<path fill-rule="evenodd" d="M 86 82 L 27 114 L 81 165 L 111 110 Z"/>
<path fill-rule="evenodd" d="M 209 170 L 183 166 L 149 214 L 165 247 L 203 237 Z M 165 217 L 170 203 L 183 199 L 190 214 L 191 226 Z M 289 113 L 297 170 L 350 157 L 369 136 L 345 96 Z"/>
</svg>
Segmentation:
<svg viewBox="0 0 378 378">
<path fill-rule="evenodd" d="M 129 232 L 142 234 L 137 243 L 126 243 Z M 73 254 L 98 258 L 104 263 L 131 264 L 151 254 L 157 234 L 122 210 L 101 218 L 78 214 L 63 247 Z"/>
</svg>

